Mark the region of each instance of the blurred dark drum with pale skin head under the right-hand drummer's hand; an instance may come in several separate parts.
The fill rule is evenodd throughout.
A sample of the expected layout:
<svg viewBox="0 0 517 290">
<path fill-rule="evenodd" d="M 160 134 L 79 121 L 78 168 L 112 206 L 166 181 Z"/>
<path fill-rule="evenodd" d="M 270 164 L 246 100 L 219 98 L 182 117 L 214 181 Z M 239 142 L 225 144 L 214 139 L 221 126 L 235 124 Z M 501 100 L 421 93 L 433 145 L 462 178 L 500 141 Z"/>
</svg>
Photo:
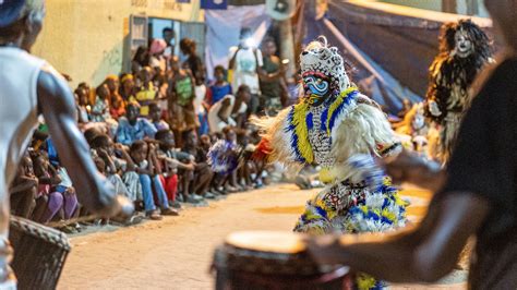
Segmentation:
<svg viewBox="0 0 517 290">
<path fill-rule="evenodd" d="M 321 266 L 292 232 L 236 232 L 215 251 L 216 290 L 350 289 L 348 268 Z"/>
</svg>

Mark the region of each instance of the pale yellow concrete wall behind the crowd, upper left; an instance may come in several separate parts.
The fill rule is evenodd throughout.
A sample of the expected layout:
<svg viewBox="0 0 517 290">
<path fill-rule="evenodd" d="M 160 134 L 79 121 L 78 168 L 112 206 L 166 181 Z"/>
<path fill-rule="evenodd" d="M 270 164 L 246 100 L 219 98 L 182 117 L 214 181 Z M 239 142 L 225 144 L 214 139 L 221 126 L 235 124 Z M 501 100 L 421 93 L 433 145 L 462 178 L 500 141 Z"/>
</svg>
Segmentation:
<svg viewBox="0 0 517 290">
<path fill-rule="evenodd" d="M 132 14 L 202 21 L 200 0 L 47 0 L 45 26 L 33 53 L 72 76 L 72 85 L 99 84 L 122 70 Z"/>
</svg>

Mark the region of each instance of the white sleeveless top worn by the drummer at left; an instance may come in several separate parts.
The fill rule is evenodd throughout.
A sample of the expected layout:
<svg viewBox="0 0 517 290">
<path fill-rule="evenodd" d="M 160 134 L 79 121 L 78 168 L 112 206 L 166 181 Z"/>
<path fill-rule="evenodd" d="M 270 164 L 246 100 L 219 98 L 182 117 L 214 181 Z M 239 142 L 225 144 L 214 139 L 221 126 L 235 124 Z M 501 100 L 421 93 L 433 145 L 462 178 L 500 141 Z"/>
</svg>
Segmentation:
<svg viewBox="0 0 517 290">
<path fill-rule="evenodd" d="M 0 47 L 0 219 L 9 215 L 9 184 L 37 124 L 37 80 L 45 63 L 20 48 Z"/>
</svg>

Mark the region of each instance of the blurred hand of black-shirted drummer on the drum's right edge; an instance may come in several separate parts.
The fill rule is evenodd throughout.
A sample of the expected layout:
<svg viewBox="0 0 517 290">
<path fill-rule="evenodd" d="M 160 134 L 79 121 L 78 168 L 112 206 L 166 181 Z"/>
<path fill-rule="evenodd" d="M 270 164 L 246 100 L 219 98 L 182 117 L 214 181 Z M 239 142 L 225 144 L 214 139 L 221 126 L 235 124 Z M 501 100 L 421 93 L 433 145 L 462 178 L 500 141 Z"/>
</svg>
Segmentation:
<svg viewBox="0 0 517 290">
<path fill-rule="evenodd" d="M 339 235 L 310 237 L 305 240 L 308 252 L 318 265 L 342 264 L 340 258 L 341 247 L 339 245 Z"/>
</svg>

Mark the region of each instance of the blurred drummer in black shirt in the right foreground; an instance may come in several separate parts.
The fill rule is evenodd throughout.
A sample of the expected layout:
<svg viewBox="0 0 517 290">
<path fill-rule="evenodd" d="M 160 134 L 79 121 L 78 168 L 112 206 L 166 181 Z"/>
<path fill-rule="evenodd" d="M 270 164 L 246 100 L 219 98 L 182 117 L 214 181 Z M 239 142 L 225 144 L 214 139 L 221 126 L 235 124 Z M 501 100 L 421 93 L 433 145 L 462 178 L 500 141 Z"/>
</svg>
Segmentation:
<svg viewBox="0 0 517 290">
<path fill-rule="evenodd" d="M 469 289 L 517 289 L 517 0 L 484 2 L 506 53 L 484 72 L 448 168 L 408 153 L 387 165 L 394 179 L 436 192 L 428 215 L 407 232 L 312 240 L 317 262 L 387 281 L 432 282 L 453 270 L 467 239 L 476 235 Z"/>
</svg>

